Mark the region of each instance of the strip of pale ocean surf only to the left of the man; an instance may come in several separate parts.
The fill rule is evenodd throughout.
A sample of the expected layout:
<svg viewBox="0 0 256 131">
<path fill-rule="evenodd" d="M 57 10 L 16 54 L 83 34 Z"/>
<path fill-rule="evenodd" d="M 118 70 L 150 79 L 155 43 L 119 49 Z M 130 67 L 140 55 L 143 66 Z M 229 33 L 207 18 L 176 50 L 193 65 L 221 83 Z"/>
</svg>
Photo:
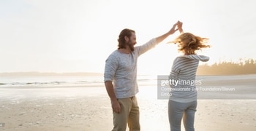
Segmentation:
<svg viewBox="0 0 256 131">
<path fill-rule="evenodd" d="M 102 84 L 102 76 L 1 76 L 0 87 L 61 87 Z"/>
</svg>

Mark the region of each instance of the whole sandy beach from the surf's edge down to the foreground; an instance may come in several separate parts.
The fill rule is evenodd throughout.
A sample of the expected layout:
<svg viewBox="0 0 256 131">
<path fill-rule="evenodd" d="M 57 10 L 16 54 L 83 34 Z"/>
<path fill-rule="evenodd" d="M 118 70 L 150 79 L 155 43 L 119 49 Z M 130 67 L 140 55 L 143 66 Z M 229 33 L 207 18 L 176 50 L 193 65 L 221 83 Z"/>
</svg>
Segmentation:
<svg viewBox="0 0 256 131">
<path fill-rule="evenodd" d="M 169 129 L 167 100 L 157 88 L 140 87 L 141 130 Z M 112 129 L 110 100 L 104 87 L 12 87 L 0 89 L 0 130 Z M 198 100 L 197 131 L 256 130 L 256 100 Z"/>
</svg>

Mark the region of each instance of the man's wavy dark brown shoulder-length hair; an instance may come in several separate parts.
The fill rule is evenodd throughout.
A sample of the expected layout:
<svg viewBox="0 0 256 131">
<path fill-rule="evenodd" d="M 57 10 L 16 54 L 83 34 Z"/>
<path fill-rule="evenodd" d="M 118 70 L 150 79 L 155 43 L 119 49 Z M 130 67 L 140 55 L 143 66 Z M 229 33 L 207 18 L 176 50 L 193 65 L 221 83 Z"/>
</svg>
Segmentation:
<svg viewBox="0 0 256 131">
<path fill-rule="evenodd" d="M 135 31 L 129 28 L 124 28 L 124 30 L 121 31 L 118 37 L 118 49 L 125 49 L 126 41 L 124 39 L 124 36 L 130 38 L 132 36 L 132 33 L 135 33 Z"/>
</svg>

